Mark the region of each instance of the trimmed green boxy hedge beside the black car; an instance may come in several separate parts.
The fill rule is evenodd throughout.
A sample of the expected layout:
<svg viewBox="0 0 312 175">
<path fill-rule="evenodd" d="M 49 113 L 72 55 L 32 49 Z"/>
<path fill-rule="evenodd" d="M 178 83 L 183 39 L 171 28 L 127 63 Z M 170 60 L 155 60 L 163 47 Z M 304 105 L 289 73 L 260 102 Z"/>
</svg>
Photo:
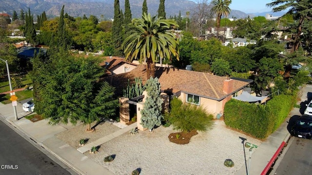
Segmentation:
<svg viewBox="0 0 312 175">
<path fill-rule="evenodd" d="M 224 107 L 224 122 L 256 138 L 264 139 L 283 123 L 295 103 L 295 96 L 278 95 L 266 105 L 230 100 Z"/>
</svg>

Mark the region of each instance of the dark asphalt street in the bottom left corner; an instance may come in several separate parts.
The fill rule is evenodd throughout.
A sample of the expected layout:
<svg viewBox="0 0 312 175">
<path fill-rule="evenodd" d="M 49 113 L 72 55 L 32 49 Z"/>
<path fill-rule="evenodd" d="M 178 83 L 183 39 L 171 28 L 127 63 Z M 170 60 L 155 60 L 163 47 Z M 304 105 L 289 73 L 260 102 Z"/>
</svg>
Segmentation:
<svg viewBox="0 0 312 175">
<path fill-rule="evenodd" d="M 59 163 L 64 168 L 56 163 L 55 161 L 58 161 L 56 158 L 54 161 L 50 157 L 47 157 L 45 155 L 49 154 L 47 151 L 43 154 L 39 151 L 40 148 L 38 149 L 23 138 L 26 137 L 25 135 L 21 137 L 15 130 L 17 129 L 10 128 L 0 121 L 0 175 L 75 174 L 73 170 L 61 162 Z"/>
</svg>

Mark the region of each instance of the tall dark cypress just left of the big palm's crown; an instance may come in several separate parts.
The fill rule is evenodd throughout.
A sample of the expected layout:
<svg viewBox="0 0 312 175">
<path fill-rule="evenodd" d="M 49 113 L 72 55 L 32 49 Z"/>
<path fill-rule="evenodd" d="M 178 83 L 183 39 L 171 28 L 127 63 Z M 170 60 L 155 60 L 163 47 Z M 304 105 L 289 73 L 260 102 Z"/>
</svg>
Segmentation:
<svg viewBox="0 0 312 175">
<path fill-rule="evenodd" d="M 123 16 L 123 14 L 120 14 L 120 7 L 119 7 L 119 0 L 115 0 L 114 3 L 114 21 L 113 21 L 113 26 L 112 26 L 112 40 L 114 43 L 114 54 L 116 56 L 121 56 L 122 55 L 122 47 L 121 47 L 121 43 L 122 43 L 122 20 L 123 17 L 121 18 L 121 15 Z"/>
</svg>

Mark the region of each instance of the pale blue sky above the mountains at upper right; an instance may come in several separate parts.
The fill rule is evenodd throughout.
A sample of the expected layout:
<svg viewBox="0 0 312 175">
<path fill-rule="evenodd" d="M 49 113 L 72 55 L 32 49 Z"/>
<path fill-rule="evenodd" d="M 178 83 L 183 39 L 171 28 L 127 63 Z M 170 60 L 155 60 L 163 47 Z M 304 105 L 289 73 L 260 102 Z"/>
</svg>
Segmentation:
<svg viewBox="0 0 312 175">
<path fill-rule="evenodd" d="M 192 0 L 194 2 L 198 0 Z M 266 7 L 267 3 L 273 0 L 232 0 L 230 9 L 239 10 L 245 13 L 261 13 L 261 12 L 271 12 L 272 9 Z M 211 2 L 211 0 L 208 0 Z"/>
</svg>

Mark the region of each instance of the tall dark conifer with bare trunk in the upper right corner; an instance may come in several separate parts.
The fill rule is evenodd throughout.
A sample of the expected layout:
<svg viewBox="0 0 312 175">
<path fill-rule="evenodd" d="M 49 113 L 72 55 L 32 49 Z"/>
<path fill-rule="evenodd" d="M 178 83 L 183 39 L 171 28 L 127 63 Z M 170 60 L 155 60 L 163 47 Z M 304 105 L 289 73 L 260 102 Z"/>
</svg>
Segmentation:
<svg viewBox="0 0 312 175">
<path fill-rule="evenodd" d="M 266 4 L 268 7 L 274 7 L 273 12 L 280 12 L 288 10 L 286 14 L 293 15 L 295 17 L 297 26 L 296 34 L 293 38 L 292 52 L 298 50 L 300 46 L 300 38 L 302 33 L 302 25 L 304 21 L 311 20 L 312 18 L 312 3 L 310 0 L 274 0 L 271 3 Z"/>
</svg>

